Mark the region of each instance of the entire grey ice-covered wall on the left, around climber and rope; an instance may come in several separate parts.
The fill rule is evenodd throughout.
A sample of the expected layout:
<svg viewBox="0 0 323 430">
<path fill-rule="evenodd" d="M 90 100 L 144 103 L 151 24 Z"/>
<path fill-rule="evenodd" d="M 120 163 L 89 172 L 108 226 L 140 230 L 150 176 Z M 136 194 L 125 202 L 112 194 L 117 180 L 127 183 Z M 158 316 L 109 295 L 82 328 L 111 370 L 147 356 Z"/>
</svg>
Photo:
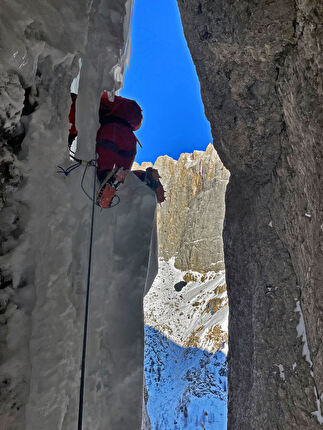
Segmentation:
<svg viewBox="0 0 323 430">
<path fill-rule="evenodd" d="M 123 216 L 94 211 L 88 272 L 91 202 L 80 191 L 79 171 L 56 175 L 56 165 L 69 163 L 70 86 L 80 59 L 78 156 L 94 156 L 100 95 L 122 86 L 131 10 L 131 0 L 1 4 L 0 422 L 6 430 L 77 428 L 88 273 L 84 428 L 141 426 L 142 295 L 155 273 L 149 269 L 155 198 L 129 175 Z M 94 177 L 90 168 L 89 190 Z"/>
</svg>

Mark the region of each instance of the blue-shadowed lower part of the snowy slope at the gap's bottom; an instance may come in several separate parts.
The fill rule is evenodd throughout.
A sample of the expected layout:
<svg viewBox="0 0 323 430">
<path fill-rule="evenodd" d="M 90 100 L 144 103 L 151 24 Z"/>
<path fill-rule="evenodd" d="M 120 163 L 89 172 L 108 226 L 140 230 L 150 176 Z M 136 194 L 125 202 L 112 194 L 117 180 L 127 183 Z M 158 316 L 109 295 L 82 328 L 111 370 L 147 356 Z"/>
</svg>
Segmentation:
<svg viewBox="0 0 323 430">
<path fill-rule="evenodd" d="M 226 429 L 222 352 L 182 348 L 146 327 L 145 374 L 152 430 Z"/>
</svg>

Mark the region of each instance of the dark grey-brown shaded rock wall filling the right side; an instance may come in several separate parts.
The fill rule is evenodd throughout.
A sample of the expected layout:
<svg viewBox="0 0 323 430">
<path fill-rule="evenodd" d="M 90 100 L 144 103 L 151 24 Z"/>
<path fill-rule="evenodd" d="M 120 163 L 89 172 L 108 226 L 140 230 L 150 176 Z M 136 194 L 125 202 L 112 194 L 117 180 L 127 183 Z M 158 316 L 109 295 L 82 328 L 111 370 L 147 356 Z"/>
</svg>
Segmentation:
<svg viewBox="0 0 323 430">
<path fill-rule="evenodd" d="M 323 4 L 178 4 L 215 147 L 231 174 L 224 223 L 228 428 L 317 429 Z"/>
</svg>

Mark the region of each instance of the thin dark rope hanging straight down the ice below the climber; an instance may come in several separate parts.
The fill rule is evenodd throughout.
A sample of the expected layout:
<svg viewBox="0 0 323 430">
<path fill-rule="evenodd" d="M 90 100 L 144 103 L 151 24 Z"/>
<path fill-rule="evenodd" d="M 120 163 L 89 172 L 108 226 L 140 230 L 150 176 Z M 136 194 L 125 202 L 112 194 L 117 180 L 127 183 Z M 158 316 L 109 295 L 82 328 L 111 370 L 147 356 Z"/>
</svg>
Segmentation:
<svg viewBox="0 0 323 430">
<path fill-rule="evenodd" d="M 93 160 L 91 160 L 92 162 Z M 87 162 L 86 168 L 91 162 Z M 96 167 L 96 165 L 94 164 Z M 86 171 L 86 169 L 85 169 Z M 94 231 L 94 214 L 95 214 L 95 181 L 96 181 L 96 168 L 93 177 L 93 198 L 92 200 L 92 214 L 91 214 L 91 227 L 90 227 L 90 247 L 89 247 L 89 261 L 87 271 L 87 286 L 85 298 L 85 317 L 83 328 L 83 347 L 82 347 L 82 362 L 81 362 L 81 380 L 80 380 L 80 398 L 79 398 L 79 413 L 77 429 L 82 430 L 83 427 L 83 405 L 84 405 L 84 385 L 85 385 L 85 364 L 86 364 L 86 344 L 87 344 L 87 328 L 89 317 L 89 300 L 90 300 L 90 287 L 91 287 L 91 267 L 92 267 L 92 248 L 93 248 L 93 231 Z"/>
</svg>

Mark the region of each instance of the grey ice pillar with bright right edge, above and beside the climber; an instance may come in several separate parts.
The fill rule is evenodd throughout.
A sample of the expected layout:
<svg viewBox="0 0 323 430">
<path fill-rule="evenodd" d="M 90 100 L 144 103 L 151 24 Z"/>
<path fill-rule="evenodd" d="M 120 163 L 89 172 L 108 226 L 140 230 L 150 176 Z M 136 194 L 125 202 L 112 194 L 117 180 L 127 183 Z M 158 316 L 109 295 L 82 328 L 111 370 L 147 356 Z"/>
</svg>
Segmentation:
<svg viewBox="0 0 323 430">
<path fill-rule="evenodd" d="M 78 158 L 95 158 L 98 109 L 103 91 L 117 92 L 122 88 L 130 58 L 132 8 L 133 0 L 94 0 L 91 4 L 77 105 Z"/>
</svg>

